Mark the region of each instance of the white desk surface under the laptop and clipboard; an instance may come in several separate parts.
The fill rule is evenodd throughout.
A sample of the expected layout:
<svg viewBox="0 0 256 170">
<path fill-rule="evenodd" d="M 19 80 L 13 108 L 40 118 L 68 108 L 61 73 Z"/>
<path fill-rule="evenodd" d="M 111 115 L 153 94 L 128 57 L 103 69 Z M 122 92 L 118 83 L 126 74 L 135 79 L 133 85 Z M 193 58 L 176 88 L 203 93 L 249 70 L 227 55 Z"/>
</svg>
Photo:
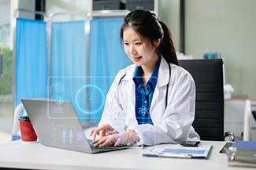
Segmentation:
<svg viewBox="0 0 256 170">
<path fill-rule="evenodd" d="M 40 143 L 20 140 L 0 145 L 0 167 L 32 169 L 248 169 L 228 167 L 228 158 L 219 151 L 224 142 L 202 141 L 212 145 L 209 160 L 164 157 L 143 157 L 151 147 L 132 147 L 101 154 L 84 154 L 61 150 Z"/>
</svg>

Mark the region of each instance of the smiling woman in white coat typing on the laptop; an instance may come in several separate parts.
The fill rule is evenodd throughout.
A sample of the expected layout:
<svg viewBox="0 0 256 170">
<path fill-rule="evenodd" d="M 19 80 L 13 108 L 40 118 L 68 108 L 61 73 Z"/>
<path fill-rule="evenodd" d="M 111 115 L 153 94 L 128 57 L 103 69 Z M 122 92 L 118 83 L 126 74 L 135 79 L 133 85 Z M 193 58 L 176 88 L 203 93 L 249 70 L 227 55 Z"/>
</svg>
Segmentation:
<svg viewBox="0 0 256 170">
<path fill-rule="evenodd" d="M 154 13 L 135 10 L 121 27 L 124 51 L 134 63 L 119 71 L 106 97 L 92 144 L 154 145 L 199 140 L 195 82 L 180 67 L 173 38 Z M 99 136 L 96 139 L 96 136 Z"/>
</svg>

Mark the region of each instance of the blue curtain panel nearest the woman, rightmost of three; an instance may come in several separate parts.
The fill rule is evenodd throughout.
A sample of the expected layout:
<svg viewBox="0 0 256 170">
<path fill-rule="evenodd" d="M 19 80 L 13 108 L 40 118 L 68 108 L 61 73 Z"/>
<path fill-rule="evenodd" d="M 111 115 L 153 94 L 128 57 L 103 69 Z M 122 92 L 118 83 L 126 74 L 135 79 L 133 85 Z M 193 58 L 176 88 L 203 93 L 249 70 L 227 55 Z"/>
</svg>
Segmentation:
<svg viewBox="0 0 256 170">
<path fill-rule="evenodd" d="M 102 111 L 98 108 L 105 103 L 102 94 L 108 92 L 110 85 L 118 71 L 130 64 L 121 45 L 120 30 L 123 19 L 97 19 L 91 20 L 90 51 L 89 51 L 89 75 L 92 85 L 91 110 L 98 110 L 97 114 L 91 114 L 90 118 L 98 122 Z M 99 76 L 99 78 L 98 78 Z M 98 90 L 101 89 L 101 90 Z M 95 103 L 97 101 L 98 103 Z"/>
</svg>

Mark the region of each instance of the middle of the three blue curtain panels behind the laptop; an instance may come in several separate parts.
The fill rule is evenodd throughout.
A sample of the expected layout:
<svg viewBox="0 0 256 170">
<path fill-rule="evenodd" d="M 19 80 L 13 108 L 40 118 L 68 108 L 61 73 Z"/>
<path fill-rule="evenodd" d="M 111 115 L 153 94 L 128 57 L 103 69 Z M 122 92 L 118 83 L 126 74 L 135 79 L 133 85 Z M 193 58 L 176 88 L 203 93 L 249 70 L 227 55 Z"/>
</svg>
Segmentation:
<svg viewBox="0 0 256 170">
<path fill-rule="evenodd" d="M 54 22 L 51 35 L 48 97 L 59 106 L 62 106 L 62 101 L 71 101 L 79 113 L 75 94 L 80 92 L 80 86 L 85 85 L 87 75 L 84 21 Z M 65 109 L 65 106 L 63 107 Z M 65 117 L 65 114 L 63 116 Z"/>
</svg>

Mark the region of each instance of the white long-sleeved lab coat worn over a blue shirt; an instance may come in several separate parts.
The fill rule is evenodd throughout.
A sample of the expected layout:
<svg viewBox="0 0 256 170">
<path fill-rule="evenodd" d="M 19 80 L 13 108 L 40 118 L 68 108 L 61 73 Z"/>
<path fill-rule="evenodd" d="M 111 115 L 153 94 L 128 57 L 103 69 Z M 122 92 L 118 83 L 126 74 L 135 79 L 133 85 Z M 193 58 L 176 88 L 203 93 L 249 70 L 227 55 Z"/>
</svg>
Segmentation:
<svg viewBox="0 0 256 170">
<path fill-rule="evenodd" d="M 113 81 L 99 126 L 108 123 L 118 132 L 135 131 L 140 138 L 137 145 L 199 140 L 200 137 L 191 126 L 195 118 L 195 82 L 182 67 L 175 64 L 170 66 L 171 81 L 168 63 L 161 58 L 158 83 L 150 106 L 150 117 L 154 125 L 138 125 L 136 120 L 135 83 L 132 80 L 136 66 L 133 64 L 119 71 Z M 117 87 L 124 74 L 125 77 Z M 168 104 L 165 110 L 168 82 Z"/>
</svg>

